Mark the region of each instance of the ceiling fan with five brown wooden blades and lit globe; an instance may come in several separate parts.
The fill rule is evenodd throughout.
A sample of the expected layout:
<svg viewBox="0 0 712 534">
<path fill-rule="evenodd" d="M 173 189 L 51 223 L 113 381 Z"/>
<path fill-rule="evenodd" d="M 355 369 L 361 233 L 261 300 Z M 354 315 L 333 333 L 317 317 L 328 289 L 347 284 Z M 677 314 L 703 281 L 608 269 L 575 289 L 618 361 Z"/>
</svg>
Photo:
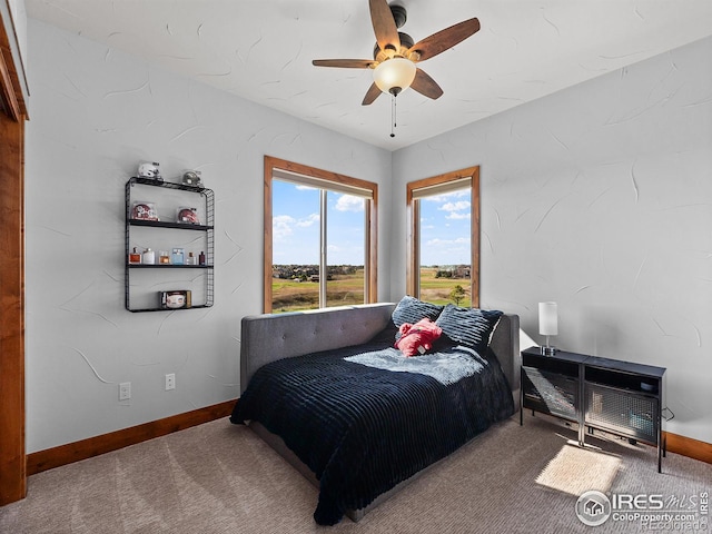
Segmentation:
<svg viewBox="0 0 712 534">
<path fill-rule="evenodd" d="M 398 31 L 407 18 L 403 6 L 389 6 L 386 0 L 368 0 L 370 21 L 376 33 L 374 59 L 315 59 L 316 67 L 374 69 L 374 82 L 364 97 L 363 106 L 372 103 L 382 92 L 394 97 L 412 87 L 421 95 L 436 99 L 443 89 L 415 63 L 425 61 L 453 48 L 479 30 L 476 18 L 464 20 L 415 42 Z"/>
</svg>

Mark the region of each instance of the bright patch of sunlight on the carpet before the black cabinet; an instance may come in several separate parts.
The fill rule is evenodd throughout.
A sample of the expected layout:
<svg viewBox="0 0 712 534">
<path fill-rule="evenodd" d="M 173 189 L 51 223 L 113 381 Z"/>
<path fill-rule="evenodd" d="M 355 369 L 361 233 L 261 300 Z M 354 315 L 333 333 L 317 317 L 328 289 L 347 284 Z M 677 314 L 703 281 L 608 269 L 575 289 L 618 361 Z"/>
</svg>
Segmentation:
<svg viewBox="0 0 712 534">
<path fill-rule="evenodd" d="M 621 458 L 612 454 L 576 445 L 564 445 L 544 467 L 536 483 L 570 495 L 590 490 L 611 490 L 621 467 Z"/>
</svg>

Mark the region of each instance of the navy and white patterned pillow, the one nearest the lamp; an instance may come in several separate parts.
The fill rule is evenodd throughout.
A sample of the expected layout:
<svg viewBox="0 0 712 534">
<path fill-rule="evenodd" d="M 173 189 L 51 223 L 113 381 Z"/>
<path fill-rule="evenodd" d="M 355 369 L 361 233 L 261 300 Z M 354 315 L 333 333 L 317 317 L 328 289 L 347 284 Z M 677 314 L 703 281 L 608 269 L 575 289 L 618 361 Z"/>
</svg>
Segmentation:
<svg viewBox="0 0 712 534">
<path fill-rule="evenodd" d="M 451 340 L 474 348 L 484 356 L 490 336 L 502 317 L 502 312 L 479 308 L 459 308 L 448 304 L 435 324 Z"/>
</svg>

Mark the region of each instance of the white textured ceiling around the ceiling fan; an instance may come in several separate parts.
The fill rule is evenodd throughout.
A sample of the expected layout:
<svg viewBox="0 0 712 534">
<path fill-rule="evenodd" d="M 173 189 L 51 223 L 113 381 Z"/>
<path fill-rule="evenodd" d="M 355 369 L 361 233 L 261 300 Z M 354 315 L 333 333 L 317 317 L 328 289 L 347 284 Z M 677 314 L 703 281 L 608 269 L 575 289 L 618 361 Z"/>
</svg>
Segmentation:
<svg viewBox="0 0 712 534">
<path fill-rule="evenodd" d="M 418 41 L 477 17 L 479 32 L 419 63 L 445 91 L 360 101 L 368 0 L 26 0 L 28 16 L 248 100 L 395 150 L 712 34 L 711 0 L 395 0 Z M 31 66 L 30 66 L 31 69 Z M 31 87 L 30 87 L 31 90 Z"/>
</svg>

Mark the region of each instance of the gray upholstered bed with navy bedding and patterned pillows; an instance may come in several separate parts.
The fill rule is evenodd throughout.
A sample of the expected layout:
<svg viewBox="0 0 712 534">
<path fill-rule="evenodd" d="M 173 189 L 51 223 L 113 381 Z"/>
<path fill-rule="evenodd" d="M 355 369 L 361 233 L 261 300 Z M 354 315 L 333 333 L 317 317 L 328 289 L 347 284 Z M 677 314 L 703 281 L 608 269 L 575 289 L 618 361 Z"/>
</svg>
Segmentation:
<svg viewBox="0 0 712 534">
<path fill-rule="evenodd" d="M 432 306 L 405 297 L 243 319 L 241 396 L 230 421 L 248 424 L 319 488 L 318 524 L 358 521 L 515 412 L 518 317 Z M 405 357 L 394 343 L 423 314 L 443 335 Z"/>
</svg>

